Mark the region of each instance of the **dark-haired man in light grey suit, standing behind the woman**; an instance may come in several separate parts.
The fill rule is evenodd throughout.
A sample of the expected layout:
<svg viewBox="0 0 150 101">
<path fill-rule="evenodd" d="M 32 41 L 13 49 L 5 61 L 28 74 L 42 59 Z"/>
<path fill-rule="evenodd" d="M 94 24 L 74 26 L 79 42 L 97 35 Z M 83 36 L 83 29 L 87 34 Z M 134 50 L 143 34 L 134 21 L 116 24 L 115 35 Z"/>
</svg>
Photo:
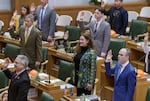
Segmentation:
<svg viewBox="0 0 150 101">
<path fill-rule="evenodd" d="M 90 30 L 97 55 L 105 57 L 110 43 L 110 25 L 104 20 L 104 9 L 97 8 L 94 12 L 94 17 L 95 20 L 84 25 L 82 20 L 84 14 L 82 14 L 78 23 L 82 30 Z"/>
</svg>

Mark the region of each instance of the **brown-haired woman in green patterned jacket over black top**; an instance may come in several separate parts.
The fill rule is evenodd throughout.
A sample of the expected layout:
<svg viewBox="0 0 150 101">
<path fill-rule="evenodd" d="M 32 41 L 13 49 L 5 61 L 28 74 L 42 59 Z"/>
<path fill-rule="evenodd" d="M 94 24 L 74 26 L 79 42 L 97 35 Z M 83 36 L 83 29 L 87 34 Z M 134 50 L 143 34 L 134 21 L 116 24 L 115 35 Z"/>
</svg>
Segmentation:
<svg viewBox="0 0 150 101">
<path fill-rule="evenodd" d="M 93 50 L 93 42 L 89 32 L 80 36 L 74 63 L 77 95 L 91 94 L 96 76 L 96 52 Z"/>
</svg>

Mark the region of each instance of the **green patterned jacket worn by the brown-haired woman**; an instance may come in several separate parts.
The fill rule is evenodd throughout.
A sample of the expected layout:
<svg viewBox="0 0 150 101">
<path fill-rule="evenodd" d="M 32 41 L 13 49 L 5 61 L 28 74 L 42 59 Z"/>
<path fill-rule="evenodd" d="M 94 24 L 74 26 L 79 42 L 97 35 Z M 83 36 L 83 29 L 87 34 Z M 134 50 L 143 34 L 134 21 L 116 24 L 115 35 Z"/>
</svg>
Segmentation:
<svg viewBox="0 0 150 101">
<path fill-rule="evenodd" d="M 94 86 L 96 76 L 96 52 L 92 49 L 87 49 L 80 59 L 78 72 L 78 88 L 85 88 L 87 83 Z"/>
</svg>

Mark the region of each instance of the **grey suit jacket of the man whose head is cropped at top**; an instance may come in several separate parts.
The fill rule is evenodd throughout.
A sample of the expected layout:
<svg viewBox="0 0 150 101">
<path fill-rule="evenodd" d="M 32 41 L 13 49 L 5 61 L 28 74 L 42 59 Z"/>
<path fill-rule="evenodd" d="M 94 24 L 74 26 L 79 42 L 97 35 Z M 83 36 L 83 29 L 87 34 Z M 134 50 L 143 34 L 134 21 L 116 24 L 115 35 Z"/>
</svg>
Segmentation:
<svg viewBox="0 0 150 101">
<path fill-rule="evenodd" d="M 40 11 L 42 9 L 42 6 L 38 6 L 36 9 L 36 15 L 38 19 L 37 26 L 39 27 L 39 19 L 40 19 Z M 54 37 L 55 33 L 55 23 L 56 19 L 56 12 L 54 9 L 51 9 L 49 6 L 47 6 L 46 11 L 44 13 L 43 18 L 43 26 L 41 32 L 42 32 L 42 40 L 47 41 L 48 36 Z"/>
</svg>

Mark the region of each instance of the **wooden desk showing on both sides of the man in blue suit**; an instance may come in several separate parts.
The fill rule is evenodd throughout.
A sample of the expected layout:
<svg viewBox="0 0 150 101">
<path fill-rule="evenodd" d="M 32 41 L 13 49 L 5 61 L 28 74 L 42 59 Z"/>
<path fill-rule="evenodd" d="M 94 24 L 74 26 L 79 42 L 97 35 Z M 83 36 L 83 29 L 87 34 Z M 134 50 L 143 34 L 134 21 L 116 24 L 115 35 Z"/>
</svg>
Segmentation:
<svg viewBox="0 0 150 101">
<path fill-rule="evenodd" d="M 102 66 L 104 68 L 104 65 Z M 113 87 L 114 87 L 114 77 L 108 76 L 106 74 L 105 69 L 101 71 L 101 85 L 103 87 L 102 92 L 100 94 L 102 99 L 107 101 L 112 101 L 113 96 Z M 148 75 L 150 77 L 150 75 Z M 150 86 L 150 81 L 147 81 L 147 77 L 137 77 L 136 88 L 134 92 L 134 101 L 145 101 L 147 88 Z"/>
</svg>

